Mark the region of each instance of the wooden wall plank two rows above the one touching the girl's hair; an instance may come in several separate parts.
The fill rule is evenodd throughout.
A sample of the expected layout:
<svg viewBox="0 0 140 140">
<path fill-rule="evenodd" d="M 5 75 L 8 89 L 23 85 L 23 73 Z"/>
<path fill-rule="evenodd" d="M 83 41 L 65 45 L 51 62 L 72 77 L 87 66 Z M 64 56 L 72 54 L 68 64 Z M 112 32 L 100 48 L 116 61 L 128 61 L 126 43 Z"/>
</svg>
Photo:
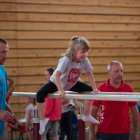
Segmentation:
<svg viewBox="0 0 140 140">
<path fill-rule="evenodd" d="M 10 13 L 9 13 L 10 14 Z M 7 16 L 9 16 L 7 14 Z M 4 15 L 4 14 L 3 14 Z M 2 16 L 2 15 L 1 15 Z M 15 15 L 11 15 L 14 19 Z M 2 16 L 3 17 L 3 16 Z M 5 19 L 4 17 L 2 19 Z M 1 20 L 1 19 L 0 19 Z M 5 19 L 8 20 L 8 19 Z M 17 21 L 77 22 L 77 23 L 140 23 L 139 16 L 17 13 Z"/>
</svg>

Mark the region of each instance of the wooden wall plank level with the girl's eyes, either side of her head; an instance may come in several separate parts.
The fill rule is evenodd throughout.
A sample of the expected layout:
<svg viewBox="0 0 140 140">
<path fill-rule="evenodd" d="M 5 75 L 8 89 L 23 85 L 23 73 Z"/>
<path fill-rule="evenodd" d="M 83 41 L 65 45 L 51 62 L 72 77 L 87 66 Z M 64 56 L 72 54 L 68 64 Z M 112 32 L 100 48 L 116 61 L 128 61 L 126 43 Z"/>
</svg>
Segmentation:
<svg viewBox="0 0 140 140">
<path fill-rule="evenodd" d="M 20 49 L 18 57 L 62 57 L 66 49 Z M 14 50 L 13 50 L 13 55 Z M 89 57 L 93 56 L 140 56 L 140 48 L 138 49 L 90 49 Z"/>
</svg>

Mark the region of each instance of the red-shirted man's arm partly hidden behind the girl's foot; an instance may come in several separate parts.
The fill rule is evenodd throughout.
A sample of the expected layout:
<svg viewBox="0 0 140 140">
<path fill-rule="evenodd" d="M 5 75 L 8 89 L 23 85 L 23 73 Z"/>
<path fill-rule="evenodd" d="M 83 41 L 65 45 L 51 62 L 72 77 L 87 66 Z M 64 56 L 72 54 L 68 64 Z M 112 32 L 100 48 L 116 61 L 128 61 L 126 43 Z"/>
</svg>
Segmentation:
<svg viewBox="0 0 140 140">
<path fill-rule="evenodd" d="M 98 113 L 99 107 L 97 106 L 92 106 L 91 108 L 91 116 L 93 118 L 97 118 L 97 113 Z M 95 135 L 95 124 L 89 123 L 89 140 L 97 140 L 96 135 Z"/>
</svg>

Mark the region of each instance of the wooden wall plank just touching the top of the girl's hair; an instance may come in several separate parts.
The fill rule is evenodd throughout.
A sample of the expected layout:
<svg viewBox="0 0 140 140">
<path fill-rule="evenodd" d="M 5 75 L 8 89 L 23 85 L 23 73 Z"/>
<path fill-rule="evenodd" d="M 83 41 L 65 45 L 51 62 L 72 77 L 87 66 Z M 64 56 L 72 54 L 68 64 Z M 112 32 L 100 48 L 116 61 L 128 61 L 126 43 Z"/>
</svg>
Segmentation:
<svg viewBox="0 0 140 140">
<path fill-rule="evenodd" d="M 138 40 L 139 32 L 50 32 L 50 31 L 17 31 L 17 39 L 71 39 L 73 36 L 87 39 Z"/>
</svg>

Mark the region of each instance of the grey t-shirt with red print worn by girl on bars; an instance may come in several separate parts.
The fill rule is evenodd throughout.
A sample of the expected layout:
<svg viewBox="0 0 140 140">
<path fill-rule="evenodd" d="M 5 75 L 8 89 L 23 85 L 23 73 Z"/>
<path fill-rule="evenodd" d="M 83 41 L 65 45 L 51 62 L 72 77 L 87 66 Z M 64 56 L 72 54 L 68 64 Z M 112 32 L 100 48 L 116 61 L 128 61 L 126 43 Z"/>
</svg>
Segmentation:
<svg viewBox="0 0 140 140">
<path fill-rule="evenodd" d="M 56 71 L 61 72 L 61 84 L 63 89 L 67 91 L 76 84 L 83 70 L 85 70 L 86 72 L 90 72 L 92 71 L 92 69 L 93 67 L 91 66 L 87 57 L 84 61 L 80 61 L 79 63 L 77 63 L 75 61 L 72 61 L 71 57 L 65 56 L 59 60 L 58 66 L 51 76 L 50 81 L 55 84 Z"/>
</svg>

